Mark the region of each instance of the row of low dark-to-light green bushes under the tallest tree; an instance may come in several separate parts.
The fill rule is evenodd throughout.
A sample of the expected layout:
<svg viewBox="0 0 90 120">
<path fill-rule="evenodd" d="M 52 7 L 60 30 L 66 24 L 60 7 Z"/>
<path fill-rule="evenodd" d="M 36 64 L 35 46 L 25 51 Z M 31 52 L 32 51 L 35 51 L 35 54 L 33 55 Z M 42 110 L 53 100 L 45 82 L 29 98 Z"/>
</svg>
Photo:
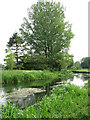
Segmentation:
<svg viewBox="0 0 90 120">
<path fill-rule="evenodd" d="M 50 70 L 57 71 L 66 69 L 72 62 L 72 56 L 68 53 L 57 54 L 55 58 L 48 59 L 44 55 L 24 55 L 24 59 L 20 61 L 19 68 L 24 70 Z"/>
</svg>

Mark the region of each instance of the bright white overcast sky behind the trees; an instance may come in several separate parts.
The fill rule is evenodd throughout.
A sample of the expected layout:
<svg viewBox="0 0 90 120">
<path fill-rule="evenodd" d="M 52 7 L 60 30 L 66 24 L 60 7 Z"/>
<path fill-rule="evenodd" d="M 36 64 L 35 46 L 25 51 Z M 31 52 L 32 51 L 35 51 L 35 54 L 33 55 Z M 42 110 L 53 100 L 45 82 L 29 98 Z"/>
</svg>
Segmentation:
<svg viewBox="0 0 90 120">
<path fill-rule="evenodd" d="M 14 32 L 18 32 L 27 9 L 38 0 L 0 0 L 0 63 L 4 63 L 6 44 Z M 50 0 L 49 0 L 50 1 Z M 53 0 L 65 8 L 65 21 L 72 24 L 74 38 L 69 53 L 74 61 L 88 57 L 88 0 Z"/>
</svg>

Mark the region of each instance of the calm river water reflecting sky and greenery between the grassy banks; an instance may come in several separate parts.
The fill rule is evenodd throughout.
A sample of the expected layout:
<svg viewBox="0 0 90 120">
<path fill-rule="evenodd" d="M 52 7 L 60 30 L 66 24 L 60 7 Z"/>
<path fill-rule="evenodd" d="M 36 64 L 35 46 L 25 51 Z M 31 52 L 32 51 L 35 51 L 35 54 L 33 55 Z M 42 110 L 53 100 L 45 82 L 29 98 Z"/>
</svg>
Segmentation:
<svg viewBox="0 0 90 120">
<path fill-rule="evenodd" d="M 75 84 L 76 86 L 79 86 L 80 88 L 84 86 L 85 83 L 88 82 L 88 79 L 90 78 L 90 74 L 74 74 L 74 77 L 67 79 L 64 81 L 64 84 L 70 82 L 71 84 Z M 10 101 L 12 103 L 17 103 L 19 107 L 24 107 L 25 103 L 28 104 L 28 106 L 34 104 L 38 99 L 42 99 L 45 94 L 49 94 L 49 91 L 55 87 L 62 86 L 64 85 L 63 81 L 58 81 L 58 82 L 52 82 L 51 84 L 48 84 L 46 86 L 39 87 L 37 86 L 37 90 L 41 89 L 41 92 L 31 92 L 30 95 L 27 97 L 12 97 Z M 31 88 L 29 84 L 20 84 L 20 85 L 6 85 L 2 86 L 0 88 L 0 105 L 3 104 L 5 105 L 6 102 L 9 100 L 5 95 L 6 94 L 12 94 L 15 91 L 20 91 L 20 90 L 28 90 L 28 88 Z M 34 87 L 36 89 L 36 87 Z M 33 88 L 32 88 L 33 90 Z M 44 90 L 44 91 L 43 91 Z M 30 91 L 29 91 L 30 92 Z"/>
</svg>

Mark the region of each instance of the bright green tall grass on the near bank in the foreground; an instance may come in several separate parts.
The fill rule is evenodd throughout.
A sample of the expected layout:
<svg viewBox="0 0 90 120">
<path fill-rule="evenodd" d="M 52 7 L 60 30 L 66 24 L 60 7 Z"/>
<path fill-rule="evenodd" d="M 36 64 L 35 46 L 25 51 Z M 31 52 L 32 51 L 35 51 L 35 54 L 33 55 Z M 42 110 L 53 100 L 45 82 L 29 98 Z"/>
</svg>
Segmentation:
<svg viewBox="0 0 90 120">
<path fill-rule="evenodd" d="M 58 87 L 42 101 L 24 110 L 7 104 L 2 106 L 2 118 L 87 118 L 88 90 L 75 85 Z"/>
</svg>

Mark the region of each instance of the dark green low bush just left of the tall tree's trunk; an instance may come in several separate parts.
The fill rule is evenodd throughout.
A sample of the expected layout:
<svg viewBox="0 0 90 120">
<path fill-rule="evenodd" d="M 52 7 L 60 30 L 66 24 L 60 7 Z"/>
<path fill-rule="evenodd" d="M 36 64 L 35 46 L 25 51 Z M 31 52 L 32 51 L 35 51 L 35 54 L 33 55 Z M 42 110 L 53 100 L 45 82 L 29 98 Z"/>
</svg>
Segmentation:
<svg viewBox="0 0 90 120">
<path fill-rule="evenodd" d="M 48 67 L 48 60 L 45 56 L 35 55 L 35 56 L 25 56 L 25 61 L 23 62 L 23 69 L 25 70 L 44 70 Z"/>
</svg>

